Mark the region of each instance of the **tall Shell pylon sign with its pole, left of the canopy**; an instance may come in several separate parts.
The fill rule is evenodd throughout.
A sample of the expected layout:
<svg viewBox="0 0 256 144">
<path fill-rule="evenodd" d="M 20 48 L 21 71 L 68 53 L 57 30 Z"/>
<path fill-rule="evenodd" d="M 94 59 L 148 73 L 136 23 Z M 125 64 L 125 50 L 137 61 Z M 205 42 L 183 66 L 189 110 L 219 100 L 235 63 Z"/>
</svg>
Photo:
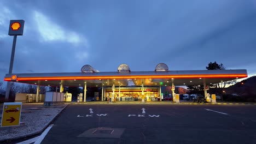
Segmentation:
<svg viewBox="0 0 256 144">
<path fill-rule="evenodd" d="M 10 67 L 9 74 L 13 73 L 13 61 L 16 47 L 17 35 L 23 35 L 24 20 L 10 20 L 9 35 L 14 35 L 13 37 L 13 48 L 11 49 Z M 10 81 L 7 82 L 7 88 L 5 92 L 5 101 L 8 101 L 10 93 Z"/>
</svg>

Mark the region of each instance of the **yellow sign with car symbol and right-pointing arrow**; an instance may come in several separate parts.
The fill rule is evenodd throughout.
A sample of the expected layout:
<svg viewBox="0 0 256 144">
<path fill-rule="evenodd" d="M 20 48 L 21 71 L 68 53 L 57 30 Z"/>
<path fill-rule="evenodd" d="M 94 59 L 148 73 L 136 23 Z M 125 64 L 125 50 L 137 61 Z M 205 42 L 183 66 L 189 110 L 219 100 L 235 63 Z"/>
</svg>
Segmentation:
<svg viewBox="0 0 256 144">
<path fill-rule="evenodd" d="M 22 103 L 4 103 L 1 127 L 13 127 L 20 125 Z"/>
</svg>

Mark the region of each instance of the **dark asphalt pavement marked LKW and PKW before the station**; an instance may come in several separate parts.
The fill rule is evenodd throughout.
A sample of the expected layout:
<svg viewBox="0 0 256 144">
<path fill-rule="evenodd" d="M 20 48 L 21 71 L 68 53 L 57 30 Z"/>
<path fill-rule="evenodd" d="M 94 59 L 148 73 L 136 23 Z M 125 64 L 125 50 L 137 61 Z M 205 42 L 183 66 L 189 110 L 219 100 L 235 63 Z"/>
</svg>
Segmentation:
<svg viewBox="0 0 256 144">
<path fill-rule="evenodd" d="M 256 143 L 255 111 L 256 105 L 71 104 L 42 143 Z"/>
</svg>

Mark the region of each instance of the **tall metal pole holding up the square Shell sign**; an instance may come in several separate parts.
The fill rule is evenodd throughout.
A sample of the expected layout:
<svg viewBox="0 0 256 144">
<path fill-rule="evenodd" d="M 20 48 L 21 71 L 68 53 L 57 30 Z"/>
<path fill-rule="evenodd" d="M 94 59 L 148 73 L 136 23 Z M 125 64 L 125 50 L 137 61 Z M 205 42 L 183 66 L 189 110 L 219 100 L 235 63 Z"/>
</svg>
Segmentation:
<svg viewBox="0 0 256 144">
<path fill-rule="evenodd" d="M 17 40 L 17 35 L 14 35 L 14 37 L 13 37 L 13 49 L 11 49 L 11 59 L 10 59 L 9 74 L 13 73 L 13 61 L 14 61 L 16 40 Z M 10 94 L 10 81 L 7 82 L 7 88 L 6 88 L 6 92 L 5 92 L 5 101 L 8 101 L 9 94 Z"/>
</svg>

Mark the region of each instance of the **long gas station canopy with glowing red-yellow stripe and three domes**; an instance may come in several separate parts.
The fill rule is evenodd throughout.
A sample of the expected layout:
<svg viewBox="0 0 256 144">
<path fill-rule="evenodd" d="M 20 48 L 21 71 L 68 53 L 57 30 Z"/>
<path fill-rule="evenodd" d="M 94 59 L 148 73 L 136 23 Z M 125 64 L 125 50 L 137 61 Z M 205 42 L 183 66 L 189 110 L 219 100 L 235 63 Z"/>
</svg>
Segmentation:
<svg viewBox="0 0 256 144">
<path fill-rule="evenodd" d="M 207 85 L 247 77 L 245 69 L 239 70 L 168 70 L 166 64 L 156 65 L 155 71 L 131 71 L 121 64 L 117 72 L 100 72 L 84 65 L 80 73 L 30 73 L 6 74 L 5 81 L 15 81 L 41 86 L 102 87 L 102 86 L 176 86 Z"/>
</svg>

